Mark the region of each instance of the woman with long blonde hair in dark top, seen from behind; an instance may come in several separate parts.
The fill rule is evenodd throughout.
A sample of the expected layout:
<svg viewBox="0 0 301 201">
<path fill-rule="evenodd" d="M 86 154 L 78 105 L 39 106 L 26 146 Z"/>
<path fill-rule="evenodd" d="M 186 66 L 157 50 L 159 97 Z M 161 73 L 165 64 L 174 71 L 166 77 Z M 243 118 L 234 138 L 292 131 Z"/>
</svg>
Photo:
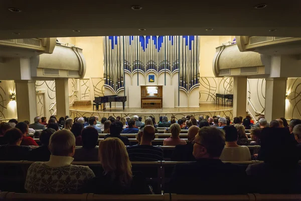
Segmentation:
<svg viewBox="0 0 301 201">
<path fill-rule="evenodd" d="M 145 178 L 138 175 L 132 176 L 131 163 L 120 139 L 107 138 L 100 141 L 98 155 L 103 173 L 99 177 L 95 177 L 84 192 L 97 194 L 147 193 Z"/>
</svg>

